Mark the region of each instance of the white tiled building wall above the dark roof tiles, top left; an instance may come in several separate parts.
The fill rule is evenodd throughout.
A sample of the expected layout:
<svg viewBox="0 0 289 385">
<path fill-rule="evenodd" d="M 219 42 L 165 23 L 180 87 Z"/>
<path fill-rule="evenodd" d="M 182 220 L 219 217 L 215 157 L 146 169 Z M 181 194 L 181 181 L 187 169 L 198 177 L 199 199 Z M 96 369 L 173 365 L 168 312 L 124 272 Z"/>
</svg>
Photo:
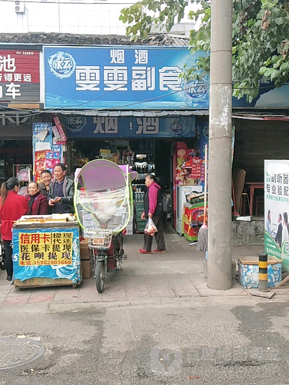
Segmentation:
<svg viewBox="0 0 289 385">
<path fill-rule="evenodd" d="M 88 3 L 89 2 L 89 3 Z M 113 4 L 110 4 L 113 3 Z M 33 0 L 21 2 L 24 13 L 15 12 L 15 2 L 1 1 L 0 32 L 60 32 L 125 35 L 119 21 L 123 0 Z M 116 4 L 119 3 L 119 4 Z"/>
</svg>

